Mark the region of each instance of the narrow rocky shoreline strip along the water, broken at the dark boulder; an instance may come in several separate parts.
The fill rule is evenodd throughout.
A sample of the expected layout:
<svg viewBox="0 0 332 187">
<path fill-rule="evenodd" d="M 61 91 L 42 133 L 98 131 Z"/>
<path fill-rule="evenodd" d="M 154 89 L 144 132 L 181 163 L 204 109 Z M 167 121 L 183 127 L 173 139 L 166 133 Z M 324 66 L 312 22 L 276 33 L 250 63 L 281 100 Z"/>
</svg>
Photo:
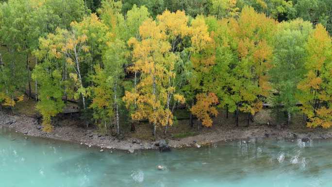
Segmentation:
<svg viewBox="0 0 332 187">
<path fill-rule="evenodd" d="M 41 130 L 37 119 L 25 116 L 10 115 L 0 112 L 0 127 L 7 127 L 22 133 L 25 136 L 44 137 L 56 140 L 65 140 L 87 147 L 99 147 L 100 151 L 105 149 L 126 150 L 133 153 L 134 150 L 157 150 L 160 149 L 158 141 L 141 140 L 137 138 L 117 139 L 114 136 L 100 136 L 94 133 L 94 129 L 84 129 L 74 126 L 55 127 L 51 133 Z M 232 130 L 216 129 L 213 133 L 201 133 L 197 136 L 190 136 L 181 139 L 167 140 L 171 148 L 201 147 L 221 141 L 232 141 L 234 139 L 251 139 L 264 137 L 278 137 L 302 139 L 307 141 L 317 138 L 332 138 L 332 129 L 316 129 L 313 132 L 297 133 L 290 129 L 278 129 L 268 126 L 250 126 L 246 128 L 235 128 Z"/>
</svg>

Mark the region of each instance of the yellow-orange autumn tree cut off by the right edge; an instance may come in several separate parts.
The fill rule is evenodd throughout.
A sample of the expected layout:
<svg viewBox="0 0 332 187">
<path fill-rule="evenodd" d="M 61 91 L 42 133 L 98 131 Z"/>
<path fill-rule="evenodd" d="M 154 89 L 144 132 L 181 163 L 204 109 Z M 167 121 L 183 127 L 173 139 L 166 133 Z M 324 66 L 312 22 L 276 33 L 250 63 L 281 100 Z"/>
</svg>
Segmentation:
<svg viewBox="0 0 332 187">
<path fill-rule="evenodd" d="M 299 83 L 299 101 L 307 115 L 307 126 L 332 126 L 332 39 L 323 25 L 318 24 L 306 45 L 307 74 Z"/>
</svg>

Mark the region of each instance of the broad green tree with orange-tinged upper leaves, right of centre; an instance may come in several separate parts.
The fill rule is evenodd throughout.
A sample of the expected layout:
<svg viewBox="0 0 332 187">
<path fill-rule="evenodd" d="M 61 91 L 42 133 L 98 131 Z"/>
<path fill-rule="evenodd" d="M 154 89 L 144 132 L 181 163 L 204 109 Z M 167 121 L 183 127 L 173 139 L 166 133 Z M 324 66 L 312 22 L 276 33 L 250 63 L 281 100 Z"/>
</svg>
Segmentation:
<svg viewBox="0 0 332 187">
<path fill-rule="evenodd" d="M 220 21 L 216 32 L 216 80 L 220 106 L 254 115 L 269 95 L 267 71 L 271 68 L 272 46 L 269 43 L 276 29 L 275 21 L 245 7 L 238 19 Z M 225 29 L 226 28 L 226 29 Z M 249 118 L 248 118 L 249 124 Z"/>
</svg>

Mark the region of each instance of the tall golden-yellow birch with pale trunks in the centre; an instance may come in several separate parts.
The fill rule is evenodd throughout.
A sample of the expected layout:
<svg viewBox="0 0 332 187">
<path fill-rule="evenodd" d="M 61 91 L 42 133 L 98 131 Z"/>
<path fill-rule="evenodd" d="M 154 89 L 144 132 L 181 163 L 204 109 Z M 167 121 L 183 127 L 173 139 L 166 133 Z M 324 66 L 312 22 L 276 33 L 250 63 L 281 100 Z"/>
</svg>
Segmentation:
<svg viewBox="0 0 332 187">
<path fill-rule="evenodd" d="M 169 109 L 171 98 L 184 102 L 183 96 L 174 95 L 174 69 L 181 39 L 189 34 L 188 18 L 184 12 L 165 11 L 156 21 L 147 19 L 139 28 L 141 41 L 131 38 L 133 46 L 133 72 L 141 73 L 140 83 L 132 91 L 126 91 L 123 100 L 127 107 L 136 105 L 132 114 L 134 120 L 148 119 L 153 124 L 153 135 L 157 126 L 173 124 Z"/>
</svg>

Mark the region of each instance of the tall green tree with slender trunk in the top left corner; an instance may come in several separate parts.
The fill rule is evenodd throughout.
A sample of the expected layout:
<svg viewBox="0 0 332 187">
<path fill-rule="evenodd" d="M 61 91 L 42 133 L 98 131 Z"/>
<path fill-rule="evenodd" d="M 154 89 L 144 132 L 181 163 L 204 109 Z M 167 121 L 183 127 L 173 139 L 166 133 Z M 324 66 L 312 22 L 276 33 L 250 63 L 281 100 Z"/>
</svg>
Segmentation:
<svg viewBox="0 0 332 187">
<path fill-rule="evenodd" d="M 9 0 L 2 4 L 1 12 L 1 41 L 10 53 L 25 56 L 25 60 L 20 62 L 24 63 L 26 67 L 26 72 L 22 72 L 25 74 L 25 78 L 20 81 L 27 83 L 28 94 L 31 96 L 30 54 L 38 46 L 38 38 L 52 30 L 52 28 L 48 28 L 52 24 L 48 25 L 47 23 L 54 23 L 56 18 L 47 13 L 48 10 L 45 6 L 35 4 L 33 0 Z M 11 75 L 6 76 L 10 77 Z M 25 92 L 25 88 L 20 91 Z"/>
</svg>

